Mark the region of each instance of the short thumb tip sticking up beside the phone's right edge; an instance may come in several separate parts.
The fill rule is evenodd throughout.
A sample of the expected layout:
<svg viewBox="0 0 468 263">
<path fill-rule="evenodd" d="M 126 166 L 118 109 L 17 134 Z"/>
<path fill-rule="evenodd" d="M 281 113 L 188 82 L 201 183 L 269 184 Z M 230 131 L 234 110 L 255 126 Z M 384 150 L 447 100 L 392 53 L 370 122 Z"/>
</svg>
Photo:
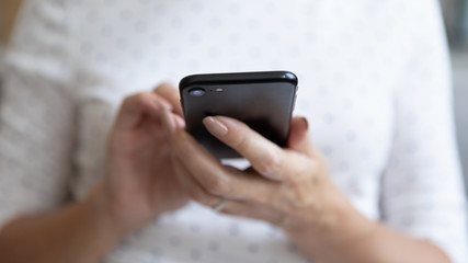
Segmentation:
<svg viewBox="0 0 468 263">
<path fill-rule="evenodd" d="M 289 137 L 287 147 L 290 150 L 305 155 L 312 155 L 312 144 L 309 136 L 309 123 L 307 118 L 295 116 L 290 121 Z"/>
</svg>

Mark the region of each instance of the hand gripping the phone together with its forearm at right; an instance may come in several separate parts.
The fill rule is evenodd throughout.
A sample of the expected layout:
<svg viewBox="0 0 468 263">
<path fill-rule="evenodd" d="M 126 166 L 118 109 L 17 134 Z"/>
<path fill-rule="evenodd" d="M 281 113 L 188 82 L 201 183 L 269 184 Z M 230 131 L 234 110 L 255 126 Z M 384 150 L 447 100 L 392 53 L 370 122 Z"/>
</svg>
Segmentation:
<svg viewBox="0 0 468 263">
<path fill-rule="evenodd" d="M 224 214 L 281 227 L 318 262 L 449 262 L 432 243 L 406 237 L 358 213 L 330 180 L 305 118 L 293 118 L 285 149 L 236 119 L 205 118 L 214 136 L 250 161 L 252 169 L 247 171 L 221 165 L 168 115 L 163 123 L 172 134 L 176 175 L 192 198 L 221 207 Z"/>
</svg>

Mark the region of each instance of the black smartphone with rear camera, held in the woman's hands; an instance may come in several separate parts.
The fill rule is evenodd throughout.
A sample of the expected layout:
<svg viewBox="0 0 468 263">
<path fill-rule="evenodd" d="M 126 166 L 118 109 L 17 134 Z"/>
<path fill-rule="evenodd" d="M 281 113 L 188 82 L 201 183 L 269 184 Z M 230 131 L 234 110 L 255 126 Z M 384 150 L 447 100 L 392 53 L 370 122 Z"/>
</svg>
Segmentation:
<svg viewBox="0 0 468 263">
<path fill-rule="evenodd" d="M 206 116 L 239 119 L 284 147 L 297 82 L 296 75 L 289 71 L 187 76 L 179 83 L 186 130 L 218 159 L 240 156 L 206 130 L 202 123 Z"/>
</svg>

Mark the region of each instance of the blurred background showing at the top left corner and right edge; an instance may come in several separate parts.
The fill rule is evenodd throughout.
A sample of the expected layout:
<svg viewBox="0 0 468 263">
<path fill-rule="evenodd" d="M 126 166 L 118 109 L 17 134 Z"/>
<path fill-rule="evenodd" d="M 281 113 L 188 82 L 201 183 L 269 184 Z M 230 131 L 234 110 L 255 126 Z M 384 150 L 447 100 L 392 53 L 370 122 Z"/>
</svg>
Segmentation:
<svg viewBox="0 0 468 263">
<path fill-rule="evenodd" d="M 458 145 L 468 187 L 468 0 L 440 1 L 452 50 Z M 20 5 L 21 0 L 0 0 L 0 85 L 2 50 Z"/>
</svg>

